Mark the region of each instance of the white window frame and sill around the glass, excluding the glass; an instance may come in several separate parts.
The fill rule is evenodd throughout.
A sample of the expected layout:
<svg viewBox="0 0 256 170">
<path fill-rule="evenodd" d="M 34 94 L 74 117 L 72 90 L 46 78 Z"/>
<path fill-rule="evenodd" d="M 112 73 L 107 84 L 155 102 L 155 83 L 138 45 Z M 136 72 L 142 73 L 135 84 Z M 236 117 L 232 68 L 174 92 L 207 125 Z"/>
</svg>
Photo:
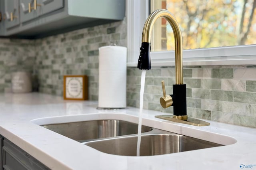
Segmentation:
<svg viewBox="0 0 256 170">
<path fill-rule="evenodd" d="M 149 0 L 126 0 L 128 67 L 136 67 Z M 151 52 L 152 66 L 173 66 L 174 51 Z M 255 65 L 256 44 L 183 50 L 183 65 Z"/>
</svg>

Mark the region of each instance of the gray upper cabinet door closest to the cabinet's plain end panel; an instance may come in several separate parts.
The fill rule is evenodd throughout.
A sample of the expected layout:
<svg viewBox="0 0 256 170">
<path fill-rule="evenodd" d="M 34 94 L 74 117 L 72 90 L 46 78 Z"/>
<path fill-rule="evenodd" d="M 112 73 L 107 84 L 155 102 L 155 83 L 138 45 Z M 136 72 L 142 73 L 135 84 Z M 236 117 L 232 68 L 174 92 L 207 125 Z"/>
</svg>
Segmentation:
<svg viewBox="0 0 256 170">
<path fill-rule="evenodd" d="M 64 7 L 64 0 L 20 0 L 20 21 L 28 22 Z"/>
</svg>

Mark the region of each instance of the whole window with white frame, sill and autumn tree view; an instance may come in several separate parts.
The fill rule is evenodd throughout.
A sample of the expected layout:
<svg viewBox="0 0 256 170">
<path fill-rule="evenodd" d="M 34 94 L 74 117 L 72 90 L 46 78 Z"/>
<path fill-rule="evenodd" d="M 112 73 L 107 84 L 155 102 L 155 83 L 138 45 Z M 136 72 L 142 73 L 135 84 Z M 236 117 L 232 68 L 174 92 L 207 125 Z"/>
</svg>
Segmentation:
<svg viewBox="0 0 256 170">
<path fill-rule="evenodd" d="M 256 0 L 152 0 L 151 4 L 150 0 L 128 0 L 126 3 L 128 66 L 136 66 L 150 6 L 151 10 L 167 8 L 176 16 L 183 37 L 184 65 L 256 64 Z M 154 27 L 152 66 L 174 65 L 171 27 L 164 19 L 159 19 Z"/>
</svg>

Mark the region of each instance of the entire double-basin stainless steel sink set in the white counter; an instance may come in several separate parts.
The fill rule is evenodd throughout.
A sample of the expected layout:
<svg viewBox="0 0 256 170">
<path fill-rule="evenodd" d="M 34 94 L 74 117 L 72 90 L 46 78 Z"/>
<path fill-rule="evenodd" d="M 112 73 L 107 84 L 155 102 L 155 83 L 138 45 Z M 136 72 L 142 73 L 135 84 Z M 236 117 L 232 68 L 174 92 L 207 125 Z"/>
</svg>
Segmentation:
<svg viewBox="0 0 256 170">
<path fill-rule="evenodd" d="M 138 124 L 120 120 L 96 120 L 42 125 L 101 152 L 136 156 Z M 171 154 L 223 146 L 142 125 L 140 156 Z"/>
</svg>

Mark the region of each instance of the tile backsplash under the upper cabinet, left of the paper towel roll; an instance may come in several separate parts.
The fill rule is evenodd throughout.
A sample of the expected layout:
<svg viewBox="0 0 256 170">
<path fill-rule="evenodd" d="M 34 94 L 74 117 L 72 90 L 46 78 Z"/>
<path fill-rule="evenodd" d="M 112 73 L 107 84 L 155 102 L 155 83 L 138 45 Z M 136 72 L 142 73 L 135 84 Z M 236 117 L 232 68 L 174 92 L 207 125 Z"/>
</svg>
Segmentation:
<svg viewBox="0 0 256 170">
<path fill-rule="evenodd" d="M 98 99 L 98 48 L 126 44 L 125 20 L 36 40 L 39 91 L 63 93 L 63 75 L 88 75 L 89 99 Z"/>
</svg>

